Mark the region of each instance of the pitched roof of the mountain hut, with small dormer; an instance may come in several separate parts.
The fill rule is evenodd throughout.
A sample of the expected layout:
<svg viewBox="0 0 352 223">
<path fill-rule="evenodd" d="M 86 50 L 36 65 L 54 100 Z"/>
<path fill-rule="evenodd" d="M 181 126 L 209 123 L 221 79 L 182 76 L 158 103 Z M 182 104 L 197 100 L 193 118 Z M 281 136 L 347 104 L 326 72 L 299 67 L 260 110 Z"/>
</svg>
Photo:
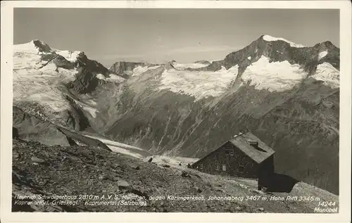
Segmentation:
<svg viewBox="0 0 352 223">
<path fill-rule="evenodd" d="M 258 141 L 258 147 L 254 147 L 249 144 L 249 141 Z M 256 163 L 262 163 L 264 160 L 268 159 L 272 154 L 275 153 L 270 146 L 266 145 L 263 141 L 261 141 L 257 136 L 252 134 L 251 132 L 246 132 L 244 134 L 240 134 L 238 136 L 234 136 L 233 139 L 227 141 L 227 143 L 231 143 L 232 145 L 239 148 L 241 151 L 246 153 L 252 160 Z M 225 144 L 222 144 L 224 146 Z M 204 158 L 208 157 L 218 149 L 222 148 L 222 146 L 216 148 L 215 150 L 208 153 L 208 155 L 204 156 L 203 158 L 199 159 L 196 163 L 199 163 Z M 194 163 L 193 165 L 195 165 Z"/>
</svg>

